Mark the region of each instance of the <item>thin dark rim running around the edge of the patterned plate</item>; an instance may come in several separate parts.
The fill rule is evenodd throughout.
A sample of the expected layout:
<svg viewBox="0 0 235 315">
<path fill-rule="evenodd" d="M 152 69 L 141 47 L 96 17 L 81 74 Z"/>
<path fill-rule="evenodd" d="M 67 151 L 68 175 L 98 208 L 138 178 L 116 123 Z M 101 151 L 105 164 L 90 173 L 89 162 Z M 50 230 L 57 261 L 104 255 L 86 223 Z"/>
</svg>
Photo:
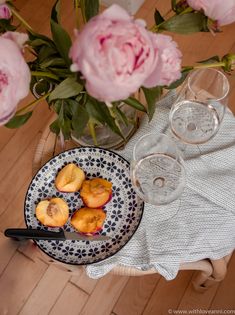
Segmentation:
<svg viewBox="0 0 235 315">
<path fill-rule="evenodd" d="M 24 198 L 24 221 L 25 221 L 25 224 L 26 224 L 26 227 L 29 228 L 28 224 L 27 224 L 27 220 L 26 220 L 26 199 L 27 199 L 27 196 L 28 196 L 28 192 L 29 192 L 29 189 L 31 187 L 31 184 L 33 182 L 33 180 L 35 179 L 35 177 L 37 176 L 37 174 L 42 170 L 42 168 L 46 165 L 46 164 L 49 164 L 51 160 L 55 159 L 56 157 L 58 157 L 59 155 L 62 155 L 66 152 L 69 152 L 69 151 L 73 151 L 73 150 L 79 150 L 79 149 L 98 149 L 98 150 L 104 150 L 104 151 L 108 151 L 108 152 L 111 152 L 113 153 L 114 155 L 117 155 L 119 156 L 121 159 L 123 159 L 129 166 L 130 166 L 130 162 L 127 161 L 123 156 L 121 156 L 119 153 L 116 153 L 112 150 L 109 150 L 109 149 L 106 149 L 106 148 L 103 148 L 103 147 L 96 147 L 96 146 L 81 146 L 81 147 L 76 147 L 76 148 L 72 148 L 72 149 L 67 149 L 63 152 L 60 152 L 58 154 L 56 154 L 55 156 L 53 156 L 52 158 L 50 158 L 46 163 L 44 163 L 38 170 L 37 172 L 34 174 L 34 176 L 32 177 L 30 183 L 28 184 L 28 188 L 27 188 L 27 191 L 25 193 L 25 198 Z M 135 192 L 136 193 L 136 192 Z M 137 193 L 136 193 L 137 195 Z M 138 195 L 137 195 L 138 196 Z M 138 198 L 140 198 L 138 196 Z M 141 199 L 141 198 L 140 198 Z M 141 199 L 142 200 L 142 199 Z M 73 263 L 73 262 L 65 262 L 64 260 L 60 259 L 60 258 L 55 258 L 53 255 L 51 254 L 48 254 L 46 252 L 46 250 L 40 245 L 38 244 L 38 241 L 36 240 L 33 240 L 33 242 L 37 245 L 37 247 L 40 248 L 41 251 L 43 251 L 47 256 L 51 257 L 52 259 L 56 260 L 56 261 L 59 261 L 61 263 L 64 263 L 66 265 L 73 265 L 73 266 L 86 266 L 86 265 L 92 265 L 92 264 L 96 264 L 96 263 L 99 263 L 99 262 L 102 262 L 102 261 L 105 261 L 106 259 L 109 259 L 111 257 L 113 257 L 114 255 L 116 255 L 121 249 L 123 249 L 128 243 L 129 241 L 132 239 L 133 235 L 135 235 L 136 231 L 138 230 L 139 226 L 140 226 L 140 223 L 143 219 L 143 213 L 144 213 L 144 208 L 145 208 L 145 202 L 142 200 L 142 207 L 140 208 L 141 210 L 141 215 L 140 215 L 140 219 L 139 219 L 139 222 L 136 226 L 136 228 L 134 229 L 132 235 L 128 238 L 128 240 L 120 247 L 118 248 L 118 250 L 115 252 L 115 253 L 112 253 L 111 255 L 109 255 L 108 257 L 105 257 L 105 258 L 100 258 L 98 260 L 95 260 L 93 262 L 88 262 L 88 263 Z M 79 241 L 78 241 L 79 242 Z"/>
</svg>

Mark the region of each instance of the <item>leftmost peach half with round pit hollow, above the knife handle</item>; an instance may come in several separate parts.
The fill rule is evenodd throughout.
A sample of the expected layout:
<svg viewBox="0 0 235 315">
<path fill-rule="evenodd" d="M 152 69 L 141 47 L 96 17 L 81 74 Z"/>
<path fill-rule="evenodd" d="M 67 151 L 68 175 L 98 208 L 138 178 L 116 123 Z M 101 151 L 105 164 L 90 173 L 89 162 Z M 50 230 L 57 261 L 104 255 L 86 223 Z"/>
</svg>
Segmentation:
<svg viewBox="0 0 235 315">
<path fill-rule="evenodd" d="M 36 207 L 36 217 L 43 225 L 63 226 L 69 218 L 69 207 L 61 198 L 42 200 Z"/>
</svg>

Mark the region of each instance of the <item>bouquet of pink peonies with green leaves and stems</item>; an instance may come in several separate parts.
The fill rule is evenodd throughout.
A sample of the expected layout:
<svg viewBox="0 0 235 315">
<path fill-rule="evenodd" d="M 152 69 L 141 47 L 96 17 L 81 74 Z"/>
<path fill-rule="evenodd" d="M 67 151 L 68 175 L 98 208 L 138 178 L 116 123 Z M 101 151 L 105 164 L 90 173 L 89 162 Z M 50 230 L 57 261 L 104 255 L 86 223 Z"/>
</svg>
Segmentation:
<svg viewBox="0 0 235 315">
<path fill-rule="evenodd" d="M 162 32 L 214 34 L 235 21 L 235 0 L 172 0 L 170 17 L 165 19 L 156 9 L 150 30 L 144 20 L 135 20 L 118 5 L 99 14 L 98 0 L 75 0 L 75 15 L 78 10 L 84 25 L 74 31 L 72 41 L 60 24 L 59 0 L 51 12 L 52 38 L 34 31 L 11 1 L 0 0 L 0 125 L 23 125 L 46 100 L 57 114 L 50 128 L 62 139 L 69 139 L 71 132 L 80 137 L 89 126 L 96 144 L 97 124 L 124 137 L 120 122 L 131 121 L 120 104 L 151 119 L 163 89 L 176 88 L 194 69 L 181 66 L 177 43 Z M 27 34 L 16 31 L 15 20 Z M 29 62 L 25 50 L 33 56 Z M 230 72 L 234 60 L 234 54 L 216 56 L 197 67 Z M 17 110 L 30 89 L 35 101 Z M 140 91 L 144 104 L 135 97 Z"/>
</svg>

